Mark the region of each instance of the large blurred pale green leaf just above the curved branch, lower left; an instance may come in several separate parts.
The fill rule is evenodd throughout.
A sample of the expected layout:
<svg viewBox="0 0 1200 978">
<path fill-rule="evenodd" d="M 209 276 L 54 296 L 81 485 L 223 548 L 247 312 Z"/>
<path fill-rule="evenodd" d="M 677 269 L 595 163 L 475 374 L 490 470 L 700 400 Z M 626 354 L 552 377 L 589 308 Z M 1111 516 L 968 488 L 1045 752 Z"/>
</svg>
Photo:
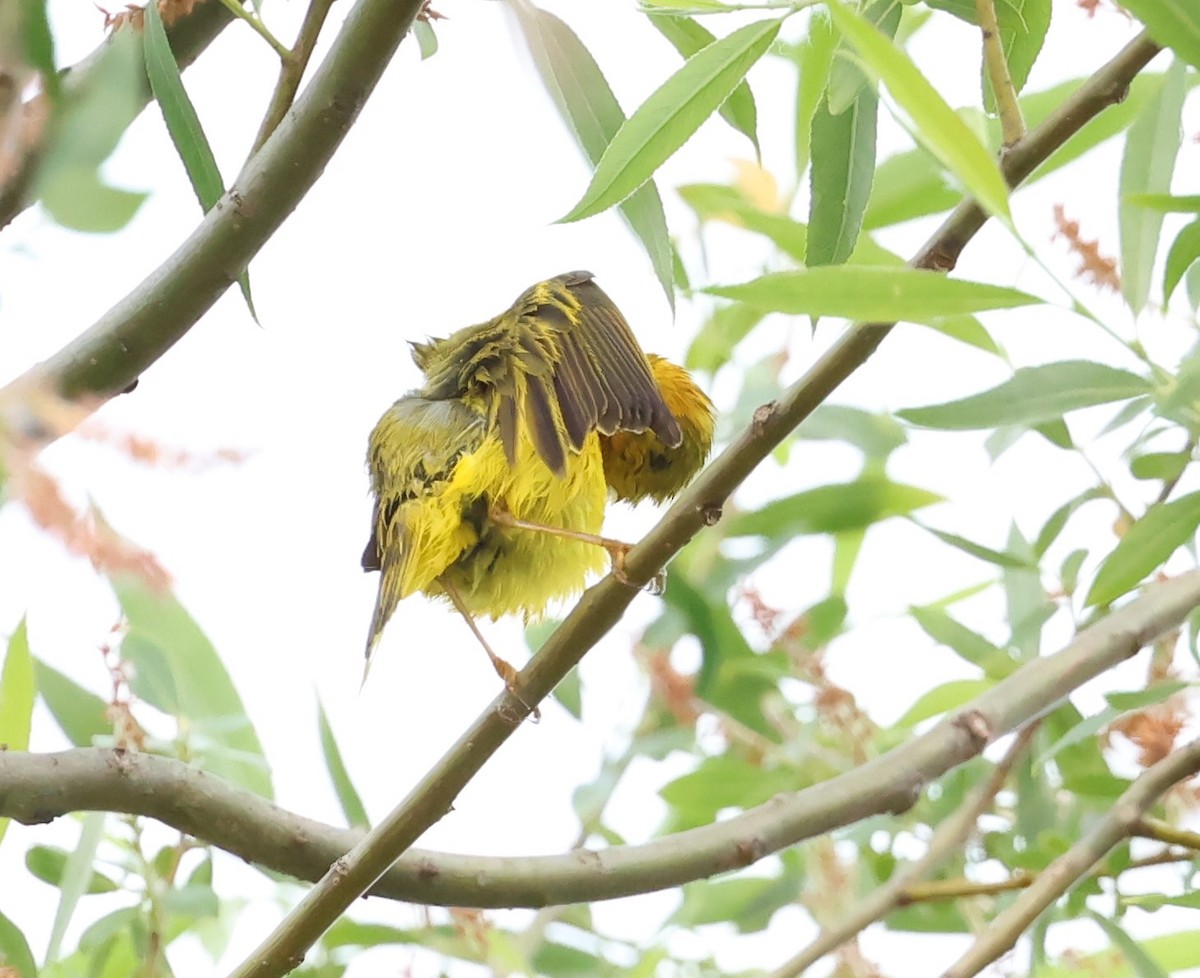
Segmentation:
<svg viewBox="0 0 1200 978">
<path fill-rule="evenodd" d="M 272 797 L 263 745 L 199 625 L 175 598 L 150 590 L 140 580 L 119 578 L 113 588 L 128 619 L 121 654 L 134 666 L 134 695 L 187 721 L 192 760 L 200 767 Z"/>
</svg>

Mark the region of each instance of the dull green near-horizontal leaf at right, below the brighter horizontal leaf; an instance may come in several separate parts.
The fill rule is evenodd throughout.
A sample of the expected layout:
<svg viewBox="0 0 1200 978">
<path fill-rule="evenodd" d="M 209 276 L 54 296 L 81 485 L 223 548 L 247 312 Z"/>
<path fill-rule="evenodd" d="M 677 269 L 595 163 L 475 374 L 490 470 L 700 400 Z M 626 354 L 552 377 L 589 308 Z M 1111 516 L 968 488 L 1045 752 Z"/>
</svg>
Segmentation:
<svg viewBox="0 0 1200 978">
<path fill-rule="evenodd" d="M 1147 394 L 1144 377 L 1090 360 L 1063 360 L 1021 367 L 1003 384 L 944 404 L 908 408 L 896 416 L 943 431 L 973 431 L 997 425 L 1034 425 L 1066 412 L 1127 401 Z"/>
</svg>

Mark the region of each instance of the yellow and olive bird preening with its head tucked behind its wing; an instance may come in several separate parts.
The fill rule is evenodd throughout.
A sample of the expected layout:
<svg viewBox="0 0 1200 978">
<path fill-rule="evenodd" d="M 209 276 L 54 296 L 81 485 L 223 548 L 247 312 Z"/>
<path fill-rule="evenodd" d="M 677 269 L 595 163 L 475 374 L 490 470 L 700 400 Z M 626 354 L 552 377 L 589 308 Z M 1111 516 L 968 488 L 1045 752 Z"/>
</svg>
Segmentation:
<svg viewBox="0 0 1200 978">
<path fill-rule="evenodd" d="M 600 535 L 610 496 L 666 502 L 686 486 L 712 449 L 713 404 L 686 370 L 642 352 L 588 271 L 410 346 L 424 384 L 368 438 L 362 569 L 379 588 L 366 668 L 398 602 L 421 592 L 457 608 L 512 690 L 516 670 L 475 619 L 535 620 L 605 551 L 624 578 L 629 545 Z"/>
</svg>

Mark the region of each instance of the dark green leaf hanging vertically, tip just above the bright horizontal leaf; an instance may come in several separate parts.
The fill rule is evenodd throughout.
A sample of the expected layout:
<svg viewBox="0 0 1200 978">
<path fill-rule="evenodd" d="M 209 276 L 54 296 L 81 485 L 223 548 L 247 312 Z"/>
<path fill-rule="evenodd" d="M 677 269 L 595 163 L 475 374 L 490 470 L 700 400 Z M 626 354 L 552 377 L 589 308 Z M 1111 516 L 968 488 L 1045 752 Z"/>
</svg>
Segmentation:
<svg viewBox="0 0 1200 978">
<path fill-rule="evenodd" d="M 840 265 L 854 251 L 875 178 L 878 113 L 878 95 L 864 85 L 845 112 L 822 102 L 812 116 L 809 266 Z"/>
</svg>

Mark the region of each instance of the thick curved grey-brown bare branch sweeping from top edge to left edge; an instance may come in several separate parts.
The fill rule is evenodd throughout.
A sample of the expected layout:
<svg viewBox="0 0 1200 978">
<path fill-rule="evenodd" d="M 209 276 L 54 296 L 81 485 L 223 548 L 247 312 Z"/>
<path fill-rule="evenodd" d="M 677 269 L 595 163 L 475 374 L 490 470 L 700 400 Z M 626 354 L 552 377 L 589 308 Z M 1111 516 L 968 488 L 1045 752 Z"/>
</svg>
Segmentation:
<svg viewBox="0 0 1200 978">
<path fill-rule="evenodd" d="M 317 182 L 420 6 L 360 0 L 293 112 L 191 236 L 83 336 L 13 385 L 110 395 L 170 349 Z"/>
</svg>

